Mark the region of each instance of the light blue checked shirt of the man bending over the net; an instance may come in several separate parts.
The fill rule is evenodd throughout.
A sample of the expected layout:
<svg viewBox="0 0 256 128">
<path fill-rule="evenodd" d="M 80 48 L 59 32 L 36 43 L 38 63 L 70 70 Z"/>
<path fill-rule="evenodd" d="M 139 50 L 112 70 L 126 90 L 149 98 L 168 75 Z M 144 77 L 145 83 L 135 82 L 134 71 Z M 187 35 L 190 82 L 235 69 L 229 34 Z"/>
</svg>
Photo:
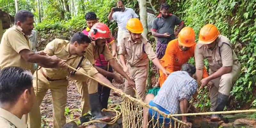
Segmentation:
<svg viewBox="0 0 256 128">
<path fill-rule="evenodd" d="M 180 100 L 184 98 L 188 101 L 197 89 L 197 82 L 185 71 L 171 73 L 160 88 L 153 102 L 171 114 L 178 114 Z"/>
</svg>

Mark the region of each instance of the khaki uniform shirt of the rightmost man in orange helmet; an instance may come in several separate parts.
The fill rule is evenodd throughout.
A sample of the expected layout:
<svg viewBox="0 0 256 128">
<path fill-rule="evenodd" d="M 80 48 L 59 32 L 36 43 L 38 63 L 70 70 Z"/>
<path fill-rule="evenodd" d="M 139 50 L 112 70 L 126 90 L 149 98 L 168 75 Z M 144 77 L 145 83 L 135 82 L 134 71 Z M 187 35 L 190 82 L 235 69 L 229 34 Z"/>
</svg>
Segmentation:
<svg viewBox="0 0 256 128">
<path fill-rule="evenodd" d="M 240 65 L 236 53 L 231 46 L 230 40 L 226 36 L 221 35 L 218 36 L 217 44 L 213 50 L 207 49 L 204 44 L 197 44 L 195 49 L 196 69 L 204 68 L 204 59 L 208 60 L 210 74 L 216 72 L 222 66 Z"/>
</svg>

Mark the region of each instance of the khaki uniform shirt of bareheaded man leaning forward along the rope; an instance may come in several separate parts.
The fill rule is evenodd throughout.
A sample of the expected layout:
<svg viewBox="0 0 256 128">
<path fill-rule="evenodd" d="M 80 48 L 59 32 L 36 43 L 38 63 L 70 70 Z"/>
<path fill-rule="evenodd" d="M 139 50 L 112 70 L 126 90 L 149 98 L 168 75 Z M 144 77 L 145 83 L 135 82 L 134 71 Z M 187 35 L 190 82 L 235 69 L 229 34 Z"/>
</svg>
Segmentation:
<svg viewBox="0 0 256 128">
<path fill-rule="evenodd" d="M 68 65 L 70 65 L 73 68 L 76 68 L 82 56 L 70 56 L 69 45 L 70 42 L 67 40 L 54 39 L 52 42 L 46 45 L 44 51 L 47 52 L 49 56 L 56 55 L 58 58 L 66 60 L 66 63 Z M 96 68 L 92 66 L 92 64 L 87 58 L 84 58 L 80 67 L 83 68 L 89 76 L 94 76 L 96 73 L 98 73 Z M 73 70 L 69 68 L 43 68 L 43 71 L 44 74 L 48 76 L 50 79 L 57 80 L 65 79 Z"/>
</svg>

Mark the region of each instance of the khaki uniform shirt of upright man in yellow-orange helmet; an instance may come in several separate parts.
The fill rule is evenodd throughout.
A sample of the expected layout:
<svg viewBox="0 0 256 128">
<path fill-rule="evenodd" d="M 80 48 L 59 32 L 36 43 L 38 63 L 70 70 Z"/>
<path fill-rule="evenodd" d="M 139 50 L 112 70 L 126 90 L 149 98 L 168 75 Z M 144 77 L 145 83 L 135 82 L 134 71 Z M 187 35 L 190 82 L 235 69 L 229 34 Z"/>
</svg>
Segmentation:
<svg viewBox="0 0 256 128">
<path fill-rule="evenodd" d="M 119 54 L 126 55 L 127 63 L 130 66 L 146 66 L 148 64 L 148 59 L 153 60 L 156 58 L 156 53 L 148 40 L 142 36 L 140 40 L 140 42 L 133 42 L 130 35 L 126 35 L 121 40 Z M 145 52 L 143 52 L 143 44 Z"/>
</svg>

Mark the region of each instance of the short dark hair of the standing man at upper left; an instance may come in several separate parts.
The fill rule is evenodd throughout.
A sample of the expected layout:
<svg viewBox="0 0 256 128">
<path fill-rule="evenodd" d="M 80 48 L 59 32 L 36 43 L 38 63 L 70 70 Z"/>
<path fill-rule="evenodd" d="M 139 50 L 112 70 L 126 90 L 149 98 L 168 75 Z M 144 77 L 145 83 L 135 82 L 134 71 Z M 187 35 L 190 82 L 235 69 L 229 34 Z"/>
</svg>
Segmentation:
<svg viewBox="0 0 256 128">
<path fill-rule="evenodd" d="M 34 18 L 34 14 L 28 10 L 20 10 L 14 16 L 14 25 L 17 25 L 17 22 L 25 22 L 27 18 Z"/>
</svg>

